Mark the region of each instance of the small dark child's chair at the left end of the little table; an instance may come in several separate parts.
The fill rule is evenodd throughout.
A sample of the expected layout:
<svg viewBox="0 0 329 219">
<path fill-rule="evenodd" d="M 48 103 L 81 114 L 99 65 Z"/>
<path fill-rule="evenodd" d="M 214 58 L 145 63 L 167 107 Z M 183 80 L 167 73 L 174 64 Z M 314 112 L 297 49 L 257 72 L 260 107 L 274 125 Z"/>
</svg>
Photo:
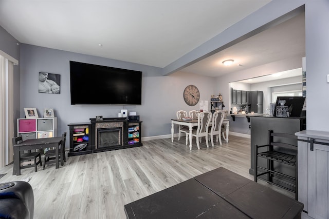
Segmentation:
<svg viewBox="0 0 329 219">
<path fill-rule="evenodd" d="M 18 136 L 18 137 L 13 137 L 12 138 L 12 145 L 17 145 L 19 143 L 23 142 L 23 138 L 22 136 Z M 36 162 L 36 158 L 39 157 L 39 161 Z M 24 165 L 25 162 L 28 162 L 27 165 Z M 31 164 L 31 161 L 34 161 Z M 21 163 L 23 162 L 23 163 Z M 21 156 L 20 156 L 20 165 L 21 165 L 21 169 L 24 168 L 28 168 L 28 167 L 34 167 L 34 172 L 37 171 L 37 166 L 38 164 L 40 164 L 40 166 L 42 167 L 42 161 L 41 161 L 41 152 L 40 151 L 36 151 L 36 152 L 31 152 L 31 151 L 27 151 L 27 153 L 23 153 L 21 152 Z M 23 165 L 23 166 L 22 166 Z M 15 165 L 13 165 L 13 171 L 12 174 L 16 174 L 16 169 L 15 169 Z"/>
</svg>

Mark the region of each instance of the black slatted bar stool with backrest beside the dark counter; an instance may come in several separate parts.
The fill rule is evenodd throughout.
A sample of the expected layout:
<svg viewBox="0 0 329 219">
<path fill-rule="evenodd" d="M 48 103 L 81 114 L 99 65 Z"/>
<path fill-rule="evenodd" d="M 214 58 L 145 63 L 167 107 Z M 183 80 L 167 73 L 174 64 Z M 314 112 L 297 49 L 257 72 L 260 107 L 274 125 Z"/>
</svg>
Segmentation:
<svg viewBox="0 0 329 219">
<path fill-rule="evenodd" d="M 262 148 L 266 150 L 264 151 Z M 260 165 L 259 158 L 267 161 L 267 165 Z M 293 174 L 287 171 L 288 166 L 290 166 L 290 169 L 293 169 Z M 263 180 L 295 192 L 296 200 L 298 200 L 297 136 L 268 130 L 267 145 L 254 145 L 253 168 L 254 182 Z"/>
</svg>

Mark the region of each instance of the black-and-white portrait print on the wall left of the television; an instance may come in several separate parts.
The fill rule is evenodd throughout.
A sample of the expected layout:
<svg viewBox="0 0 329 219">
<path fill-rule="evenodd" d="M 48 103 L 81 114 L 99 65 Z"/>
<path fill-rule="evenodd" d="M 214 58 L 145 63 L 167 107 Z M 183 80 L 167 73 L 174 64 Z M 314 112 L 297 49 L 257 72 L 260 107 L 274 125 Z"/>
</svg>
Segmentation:
<svg viewBox="0 0 329 219">
<path fill-rule="evenodd" d="M 61 92 L 61 75 L 52 74 L 48 72 L 39 72 L 39 93 L 54 93 L 59 94 Z"/>
</svg>

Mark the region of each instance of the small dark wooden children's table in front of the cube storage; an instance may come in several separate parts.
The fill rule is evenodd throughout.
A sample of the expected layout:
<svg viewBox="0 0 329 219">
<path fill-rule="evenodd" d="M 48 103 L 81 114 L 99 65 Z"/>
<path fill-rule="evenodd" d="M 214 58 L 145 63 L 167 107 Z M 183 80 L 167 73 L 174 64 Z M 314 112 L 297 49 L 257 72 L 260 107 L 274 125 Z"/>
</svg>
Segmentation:
<svg viewBox="0 0 329 219">
<path fill-rule="evenodd" d="M 16 170 L 16 175 L 21 175 L 21 165 L 20 165 L 20 156 L 21 151 L 33 150 L 33 149 L 43 149 L 43 148 L 52 148 L 56 149 L 56 169 L 58 169 L 58 154 L 59 146 L 61 144 L 62 137 L 46 137 L 46 138 L 36 138 L 28 139 L 20 144 L 14 145 L 14 168 Z M 64 161 L 61 159 L 62 166 Z"/>
</svg>

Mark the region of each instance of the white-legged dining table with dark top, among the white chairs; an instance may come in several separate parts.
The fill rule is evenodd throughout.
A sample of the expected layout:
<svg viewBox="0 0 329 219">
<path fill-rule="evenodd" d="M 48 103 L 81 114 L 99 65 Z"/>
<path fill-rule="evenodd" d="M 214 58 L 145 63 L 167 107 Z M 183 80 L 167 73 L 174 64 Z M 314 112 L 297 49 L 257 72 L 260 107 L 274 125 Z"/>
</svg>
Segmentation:
<svg viewBox="0 0 329 219">
<path fill-rule="evenodd" d="M 178 119 L 178 118 L 173 118 L 171 120 L 171 142 L 174 142 L 174 125 L 181 125 L 181 126 L 188 126 L 189 127 L 189 141 L 190 141 L 190 150 L 192 150 L 192 130 L 193 127 L 197 126 L 197 118 L 192 119 L 192 120 L 185 120 L 185 119 Z M 228 143 L 228 133 L 229 133 L 229 126 L 230 126 L 230 121 L 228 119 L 224 119 L 223 124 L 226 124 L 225 132 L 226 132 L 226 143 Z"/>
</svg>

